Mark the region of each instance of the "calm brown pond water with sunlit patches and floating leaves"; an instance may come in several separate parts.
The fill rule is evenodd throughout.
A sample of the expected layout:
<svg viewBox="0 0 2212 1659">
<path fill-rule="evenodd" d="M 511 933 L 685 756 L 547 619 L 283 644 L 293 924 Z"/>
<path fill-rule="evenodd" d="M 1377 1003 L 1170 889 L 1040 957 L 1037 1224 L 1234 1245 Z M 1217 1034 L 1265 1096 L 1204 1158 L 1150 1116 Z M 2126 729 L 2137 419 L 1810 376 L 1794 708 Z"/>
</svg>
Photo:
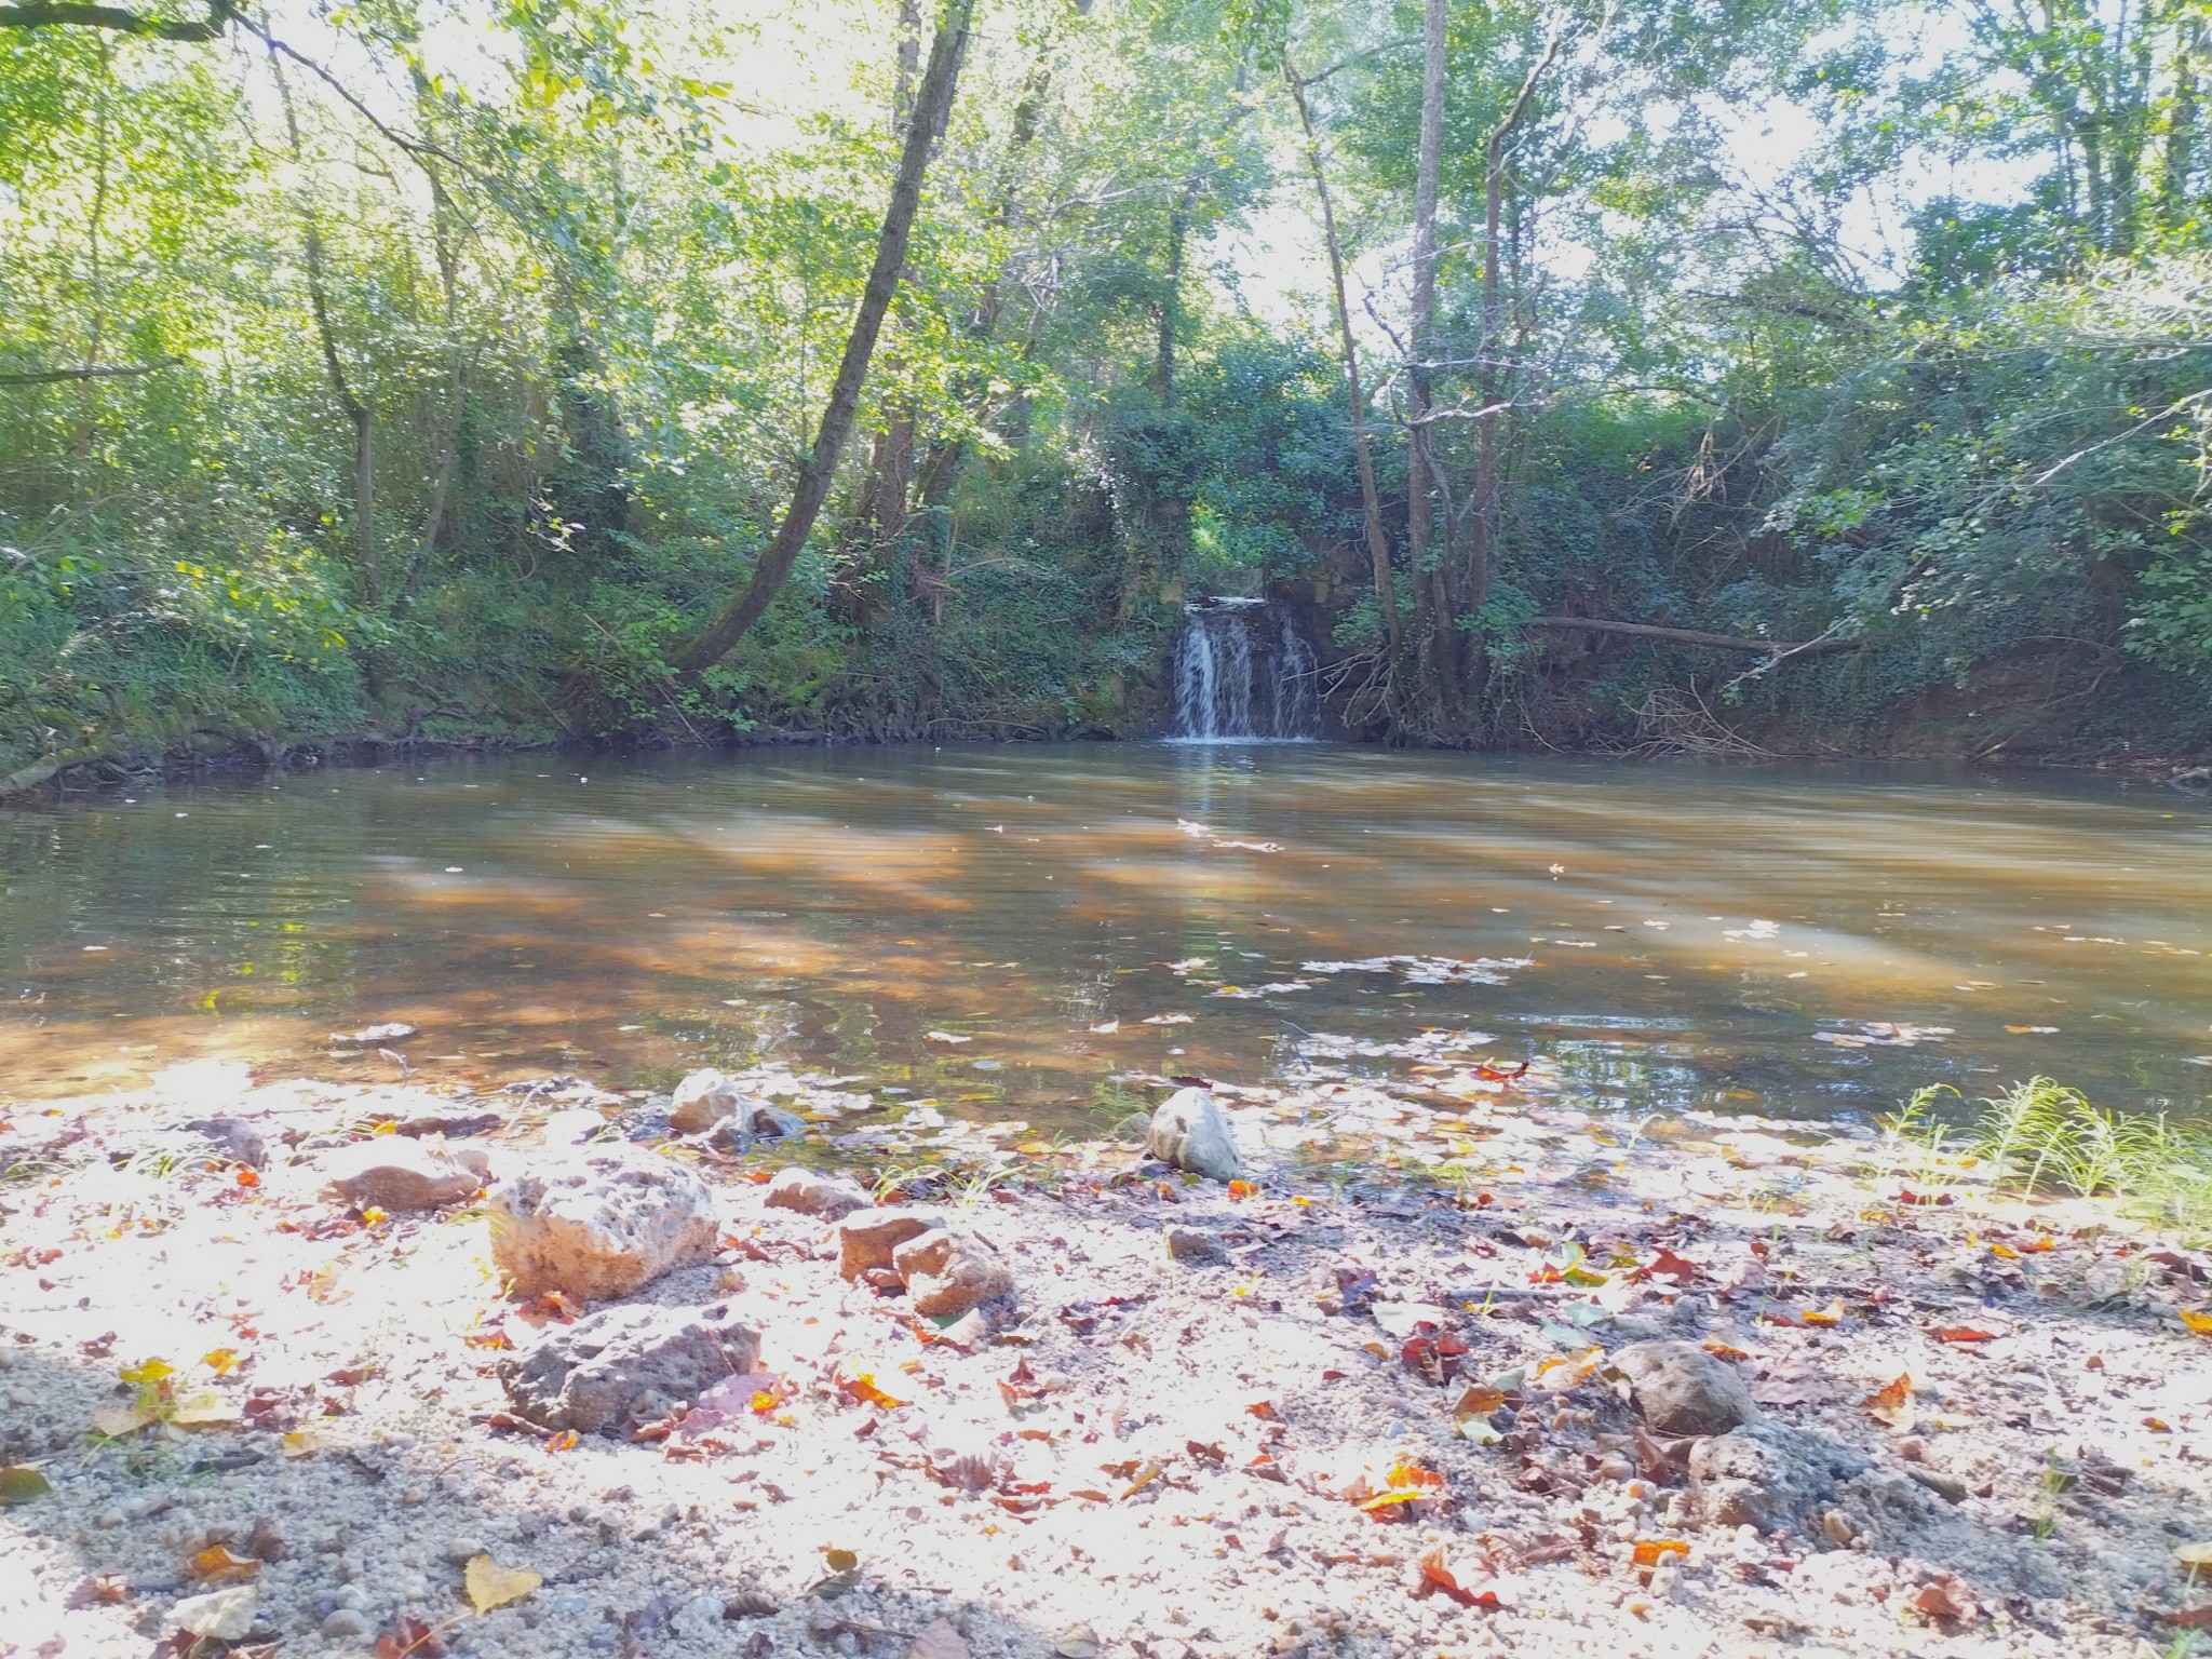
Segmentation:
<svg viewBox="0 0 2212 1659">
<path fill-rule="evenodd" d="M 392 1075 L 323 1035 L 407 1020 L 431 1077 L 774 1057 L 1051 1124 L 1124 1071 L 1256 1082 L 1285 1037 L 1451 1026 L 1626 1113 L 2048 1071 L 2201 1115 L 2208 872 L 2212 803 L 1893 772 L 1325 745 L 310 772 L 0 818 L 0 1088 Z"/>
</svg>

